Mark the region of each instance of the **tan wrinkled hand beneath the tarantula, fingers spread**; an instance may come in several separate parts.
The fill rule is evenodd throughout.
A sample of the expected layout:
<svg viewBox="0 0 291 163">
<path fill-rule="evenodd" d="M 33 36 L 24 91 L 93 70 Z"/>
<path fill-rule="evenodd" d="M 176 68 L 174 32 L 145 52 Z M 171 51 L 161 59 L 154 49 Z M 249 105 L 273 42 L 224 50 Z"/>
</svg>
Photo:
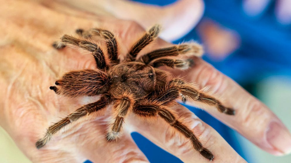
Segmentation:
<svg viewBox="0 0 291 163">
<path fill-rule="evenodd" d="M 44 6 L 37 2 L 9 1 L 1 5 L 0 15 L 0 125 L 32 162 L 83 162 L 87 159 L 93 162 L 148 162 L 130 137 L 133 131 L 183 162 L 209 162 L 187 145 L 183 136 L 169 132 L 168 125 L 157 123 L 162 122 L 159 118 L 150 123 L 131 115 L 126 120 L 123 136 L 116 142 L 107 142 L 105 131 L 110 108 L 66 127 L 66 132 L 61 131 L 38 150 L 35 142 L 51 122 L 99 98 L 71 99 L 49 90 L 49 86 L 66 72 L 96 69 L 90 54 L 80 54 L 70 48 L 55 50 L 51 46 L 53 41 L 77 28 L 106 27 L 118 36 L 120 53 L 126 54 L 144 29 L 133 21 L 106 14 L 100 16 L 57 2 Z M 170 45 L 158 39 L 144 52 Z M 186 76 L 185 80 L 198 83 L 201 88 L 208 86 L 215 93 L 214 97 L 236 110 L 236 115 L 221 114 L 215 108 L 206 108 L 207 112 L 271 154 L 290 152 L 290 133 L 264 104 L 202 59 L 194 58 L 194 62 L 196 66 L 187 71 L 171 72 Z M 188 109 L 180 106 L 174 109 L 180 117 L 189 120 L 189 127 L 213 152 L 213 162 L 245 162 L 213 128 Z"/>
</svg>

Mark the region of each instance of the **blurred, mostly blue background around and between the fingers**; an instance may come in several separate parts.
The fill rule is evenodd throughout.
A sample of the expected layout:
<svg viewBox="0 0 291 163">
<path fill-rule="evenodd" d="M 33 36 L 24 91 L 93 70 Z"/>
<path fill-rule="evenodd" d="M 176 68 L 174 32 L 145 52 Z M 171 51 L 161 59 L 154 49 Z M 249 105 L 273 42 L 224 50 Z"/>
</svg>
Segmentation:
<svg viewBox="0 0 291 163">
<path fill-rule="evenodd" d="M 175 2 L 136 1 L 159 6 Z M 263 101 L 291 130 L 291 1 L 204 0 L 204 4 L 200 22 L 173 43 L 202 43 L 206 50 L 203 59 Z M 248 162 L 291 162 L 291 155 L 270 155 L 206 112 L 187 107 L 215 128 Z M 132 137 L 150 162 L 181 162 L 140 134 L 132 133 Z M 2 128 L 0 144 L 0 162 L 30 162 Z"/>
</svg>

